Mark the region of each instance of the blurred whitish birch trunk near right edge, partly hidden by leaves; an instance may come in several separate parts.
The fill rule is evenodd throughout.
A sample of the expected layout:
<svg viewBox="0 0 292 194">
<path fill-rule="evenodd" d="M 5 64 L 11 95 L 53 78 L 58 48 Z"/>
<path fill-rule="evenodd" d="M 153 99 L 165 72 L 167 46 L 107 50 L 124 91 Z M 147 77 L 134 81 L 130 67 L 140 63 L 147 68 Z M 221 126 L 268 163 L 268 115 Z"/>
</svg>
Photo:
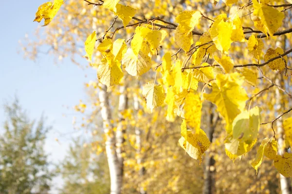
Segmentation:
<svg viewBox="0 0 292 194">
<path fill-rule="evenodd" d="M 281 84 L 281 81 L 279 78 L 276 79 L 275 84 L 281 86 L 283 84 Z M 276 98 L 276 112 L 277 115 L 282 113 L 281 107 L 282 107 L 282 95 L 280 93 L 279 88 L 276 87 L 276 92 L 275 92 L 275 98 Z M 284 129 L 283 129 L 283 118 L 280 117 L 278 120 L 276 120 L 276 133 L 278 135 L 278 154 L 282 155 L 285 152 L 287 152 L 287 150 L 284 147 Z M 281 192 L 282 194 L 291 194 L 292 190 L 291 190 L 291 180 L 290 178 L 286 178 L 283 175 L 280 174 L 280 184 L 281 184 Z"/>
</svg>

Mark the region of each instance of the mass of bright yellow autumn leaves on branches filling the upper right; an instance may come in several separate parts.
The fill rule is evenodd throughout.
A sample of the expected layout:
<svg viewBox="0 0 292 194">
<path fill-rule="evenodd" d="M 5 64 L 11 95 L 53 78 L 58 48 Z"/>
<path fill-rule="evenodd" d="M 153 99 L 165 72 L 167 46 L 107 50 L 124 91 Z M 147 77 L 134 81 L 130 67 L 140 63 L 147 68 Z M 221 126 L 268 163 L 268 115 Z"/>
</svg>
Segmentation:
<svg viewBox="0 0 292 194">
<path fill-rule="evenodd" d="M 269 161 L 292 177 L 292 156 L 284 153 L 292 146 L 291 0 L 79 1 L 84 12 L 76 21 L 68 11 L 76 6 L 72 0 L 37 10 L 35 21 L 44 18 L 48 29 L 59 25 L 53 21 L 60 7 L 64 20 L 90 21 L 78 23 L 84 31 L 62 32 L 69 39 L 77 35 L 73 45 L 82 40 L 84 49 L 63 44 L 55 54 L 86 53 L 110 95 L 126 86 L 140 97 L 143 112 L 182 123 L 177 146 L 198 163 L 223 146 L 220 154 L 226 152 L 236 165 L 248 163 L 254 176 Z M 212 126 L 205 124 L 210 115 L 214 134 L 220 134 L 214 142 Z M 284 130 L 277 132 L 282 119 Z M 285 141 L 280 148 L 278 138 Z M 237 160 L 247 156 L 250 161 Z"/>
</svg>

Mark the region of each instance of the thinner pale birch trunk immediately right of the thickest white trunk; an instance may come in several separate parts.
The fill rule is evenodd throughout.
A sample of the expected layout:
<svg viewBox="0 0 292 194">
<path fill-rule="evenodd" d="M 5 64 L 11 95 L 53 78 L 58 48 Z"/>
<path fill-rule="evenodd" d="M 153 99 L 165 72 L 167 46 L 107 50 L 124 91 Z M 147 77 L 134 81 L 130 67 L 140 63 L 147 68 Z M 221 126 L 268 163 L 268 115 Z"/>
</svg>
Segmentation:
<svg viewBox="0 0 292 194">
<path fill-rule="evenodd" d="M 126 93 L 127 87 L 125 85 L 120 86 L 120 97 L 119 97 L 119 107 L 118 107 L 118 117 L 119 122 L 117 125 L 117 132 L 116 132 L 116 152 L 120 166 L 120 175 L 123 179 L 124 174 L 124 158 L 123 153 L 124 150 L 124 142 L 125 142 L 125 132 L 126 132 L 126 124 L 125 124 L 125 117 L 123 116 L 123 112 L 126 111 L 128 108 L 128 96 Z"/>
</svg>

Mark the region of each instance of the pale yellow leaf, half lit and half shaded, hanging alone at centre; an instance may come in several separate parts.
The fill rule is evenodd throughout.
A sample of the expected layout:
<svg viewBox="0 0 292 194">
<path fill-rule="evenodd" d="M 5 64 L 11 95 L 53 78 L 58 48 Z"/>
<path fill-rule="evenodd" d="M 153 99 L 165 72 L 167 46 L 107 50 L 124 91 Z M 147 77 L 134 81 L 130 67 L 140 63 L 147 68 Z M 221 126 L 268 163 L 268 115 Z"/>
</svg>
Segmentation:
<svg viewBox="0 0 292 194">
<path fill-rule="evenodd" d="M 161 106 L 164 102 L 164 91 L 162 85 L 155 85 L 153 83 L 146 83 L 143 86 L 143 97 L 146 100 L 147 107 L 151 110 L 157 106 Z"/>
</svg>

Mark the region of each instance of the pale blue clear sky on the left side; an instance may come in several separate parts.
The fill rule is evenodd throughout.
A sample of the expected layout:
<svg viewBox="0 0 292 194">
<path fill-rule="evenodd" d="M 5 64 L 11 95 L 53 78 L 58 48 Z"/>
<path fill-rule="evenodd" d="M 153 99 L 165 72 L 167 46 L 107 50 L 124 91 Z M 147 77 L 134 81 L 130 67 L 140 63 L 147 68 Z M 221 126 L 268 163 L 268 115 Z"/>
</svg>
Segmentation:
<svg viewBox="0 0 292 194">
<path fill-rule="evenodd" d="M 20 50 L 18 40 L 23 39 L 26 33 L 33 35 L 37 26 L 41 25 L 33 20 L 38 6 L 45 1 L 1 0 L 0 124 L 4 121 L 2 104 L 13 101 L 17 95 L 30 118 L 39 118 L 41 113 L 48 117 L 48 123 L 54 129 L 48 135 L 45 148 L 50 153 L 50 160 L 58 162 L 64 157 L 72 136 L 88 135 L 83 131 L 74 132 L 72 118 L 79 114 L 72 108 L 79 99 L 86 98 L 84 83 L 94 80 L 96 72 L 82 70 L 70 60 L 56 65 L 52 56 L 39 55 L 35 63 L 24 60 L 23 53 L 17 53 Z M 86 65 L 86 60 L 83 63 Z M 54 182 L 55 185 L 61 184 L 60 178 L 55 178 Z"/>
</svg>

